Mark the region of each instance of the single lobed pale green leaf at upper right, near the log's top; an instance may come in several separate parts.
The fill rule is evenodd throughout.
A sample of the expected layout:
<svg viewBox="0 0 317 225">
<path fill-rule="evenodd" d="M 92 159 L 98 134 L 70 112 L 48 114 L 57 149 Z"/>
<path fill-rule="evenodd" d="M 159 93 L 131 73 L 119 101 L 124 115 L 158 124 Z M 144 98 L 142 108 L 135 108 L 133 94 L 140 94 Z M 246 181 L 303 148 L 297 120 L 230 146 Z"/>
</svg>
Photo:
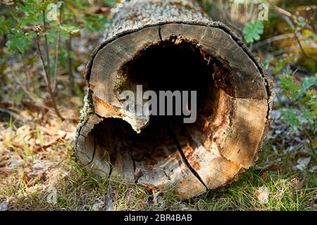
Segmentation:
<svg viewBox="0 0 317 225">
<path fill-rule="evenodd" d="M 243 28 L 242 32 L 244 34 L 244 39 L 247 43 L 252 43 L 260 39 L 260 35 L 263 34 L 264 26 L 259 20 L 254 20 L 254 22 L 249 22 Z"/>
</svg>

